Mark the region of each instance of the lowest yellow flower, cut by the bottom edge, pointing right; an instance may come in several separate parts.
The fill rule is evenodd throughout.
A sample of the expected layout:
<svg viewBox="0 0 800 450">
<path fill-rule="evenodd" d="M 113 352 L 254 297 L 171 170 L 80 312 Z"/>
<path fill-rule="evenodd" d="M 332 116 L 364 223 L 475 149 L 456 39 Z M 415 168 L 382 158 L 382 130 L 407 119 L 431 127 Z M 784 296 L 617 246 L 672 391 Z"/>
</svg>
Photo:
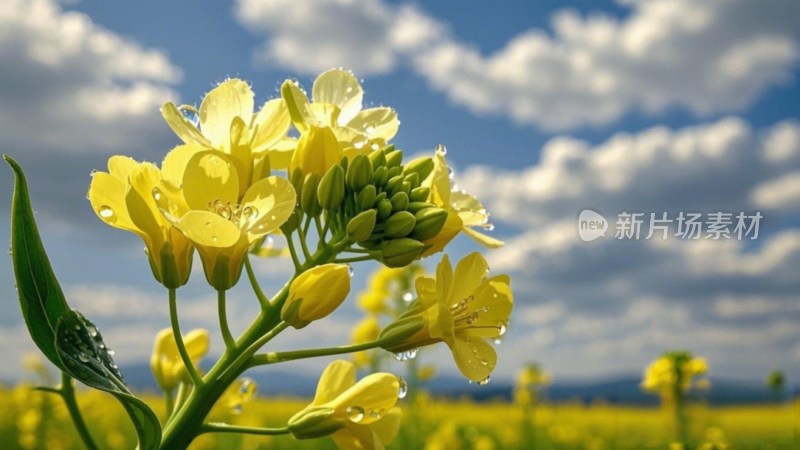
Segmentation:
<svg viewBox="0 0 800 450">
<path fill-rule="evenodd" d="M 314 400 L 289 419 L 298 439 L 331 435 L 341 450 L 383 449 L 397 435 L 400 381 L 375 373 L 356 382 L 356 367 L 337 360 L 325 368 Z"/>
</svg>

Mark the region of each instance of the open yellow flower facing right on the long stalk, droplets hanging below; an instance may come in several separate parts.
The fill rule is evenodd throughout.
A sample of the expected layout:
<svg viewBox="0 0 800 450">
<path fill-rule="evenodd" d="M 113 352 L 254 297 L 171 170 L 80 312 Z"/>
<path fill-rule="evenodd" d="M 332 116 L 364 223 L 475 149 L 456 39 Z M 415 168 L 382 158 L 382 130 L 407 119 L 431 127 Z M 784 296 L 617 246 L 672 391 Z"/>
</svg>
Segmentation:
<svg viewBox="0 0 800 450">
<path fill-rule="evenodd" d="M 494 370 L 497 354 L 486 339 L 503 335 L 513 306 L 507 275 L 487 278 L 489 266 L 479 253 L 459 261 L 453 272 L 450 259 L 442 257 L 436 279 L 417 278 L 418 300 L 381 337 L 401 332 L 414 320 L 424 326 L 387 350 L 402 352 L 444 341 L 453 352 L 458 369 L 472 381 L 484 381 Z"/>
</svg>

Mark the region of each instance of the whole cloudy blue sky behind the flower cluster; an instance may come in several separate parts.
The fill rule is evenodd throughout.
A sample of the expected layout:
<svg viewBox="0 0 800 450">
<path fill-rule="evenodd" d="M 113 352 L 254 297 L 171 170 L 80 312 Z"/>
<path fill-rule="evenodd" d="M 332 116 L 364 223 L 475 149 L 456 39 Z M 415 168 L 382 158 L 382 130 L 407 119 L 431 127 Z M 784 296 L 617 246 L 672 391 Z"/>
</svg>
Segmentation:
<svg viewBox="0 0 800 450">
<path fill-rule="evenodd" d="M 164 101 L 199 103 L 227 77 L 249 80 L 263 101 L 286 78 L 308 87 L 347 67 L 367 104 L 398 111 L 399 147 L 448 146 L 456 182 L 508 242 L 486 252 L 516 294 L 499 377 L 529 358 L 557 379 L 634 373 L 681 347 L 706 356 L 712 378 L 780 367 L 796 381 L 799 22 L 794 0 L 12 0 L 0 13 L 0 150 L 28 172 L 70 301 L 124 368 L 148 357 L 166 299 L 136 238 L 92 213 L 90 170 L 116 153 L 159 160 L 176 145 Z M 5 235 L 11 186 L 0 171 Z M 575 224 L 585 207 L 612 222 L 621 211 L 764 220 L 755 241 L 586 244 Z M 460 238 L 452 253 L 475 249 Z M 370 269 L 357 266 L 356 281 Z M 270 261 L 259 270 L 271 286 L 287 276 Z M 213 326 L 199 275 L 181 293 L 187 327 Z M 13 361 L 32 348 L 12 280 L 3 259 L 0 353 L 11 363 L 0 378 L 15 377 Z M 234 328 L 256 308 L 239 295 Z M 345 342 L 357 317 L 345 305 L 277 345 Z"/>
</svg>

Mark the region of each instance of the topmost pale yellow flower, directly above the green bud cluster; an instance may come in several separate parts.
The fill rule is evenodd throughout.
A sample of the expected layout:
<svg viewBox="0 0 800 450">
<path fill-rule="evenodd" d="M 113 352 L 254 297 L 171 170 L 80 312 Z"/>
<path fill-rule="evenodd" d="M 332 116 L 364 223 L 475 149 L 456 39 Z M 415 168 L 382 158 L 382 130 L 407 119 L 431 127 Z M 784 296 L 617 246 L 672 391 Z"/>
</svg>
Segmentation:
<svg viewBox="0 0 800 450">
<path fill-rule="evenodd" d="M 392 108 L 362 109 L 364 90 L 352 73 L 332 69 L 314 80 L 312 101 L 293 81 L 281 87 L 295 127 L 301 133 L 310 127 L 329 127 L 348 157 L 386 146 L 400 127 Z"/>
</svg>

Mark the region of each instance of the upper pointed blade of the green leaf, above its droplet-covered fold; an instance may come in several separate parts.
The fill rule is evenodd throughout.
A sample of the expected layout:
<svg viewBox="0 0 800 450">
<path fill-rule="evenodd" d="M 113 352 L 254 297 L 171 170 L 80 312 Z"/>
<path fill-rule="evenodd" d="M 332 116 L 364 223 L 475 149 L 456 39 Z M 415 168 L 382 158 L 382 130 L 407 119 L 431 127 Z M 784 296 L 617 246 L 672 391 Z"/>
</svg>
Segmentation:
<svg viewBox="0 0 800 450">
<path fill-rule="evenodd" d="M 11 260 L 22 316 L 42 353 L 53 364 L 59 365 L 55 347 L 56 323 L 69 307 L 39 237 L 25 174 L 16 161 L 7 155 L 3 157 L 15 175 L 11 202 Z"/>
</svg>

